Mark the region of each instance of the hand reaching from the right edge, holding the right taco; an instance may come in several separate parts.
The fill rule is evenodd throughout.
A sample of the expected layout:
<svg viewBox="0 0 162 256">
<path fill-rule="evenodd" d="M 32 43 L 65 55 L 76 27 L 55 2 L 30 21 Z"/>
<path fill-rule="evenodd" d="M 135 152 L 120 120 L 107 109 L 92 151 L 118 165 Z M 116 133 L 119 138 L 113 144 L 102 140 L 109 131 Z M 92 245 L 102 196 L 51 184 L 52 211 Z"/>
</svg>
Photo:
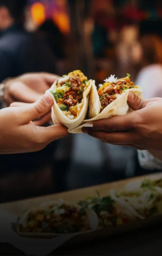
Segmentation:
<svg viewBox="0 0 162 256">
<path fill-rule="evenodd" d="M 142 100 L 129 93 L 128 105 L 136 111 L 94 121 L 93 128 L 82 128 L 83 132 L 114 145 L 162 150 L 162 98 Z"/>
</svg>

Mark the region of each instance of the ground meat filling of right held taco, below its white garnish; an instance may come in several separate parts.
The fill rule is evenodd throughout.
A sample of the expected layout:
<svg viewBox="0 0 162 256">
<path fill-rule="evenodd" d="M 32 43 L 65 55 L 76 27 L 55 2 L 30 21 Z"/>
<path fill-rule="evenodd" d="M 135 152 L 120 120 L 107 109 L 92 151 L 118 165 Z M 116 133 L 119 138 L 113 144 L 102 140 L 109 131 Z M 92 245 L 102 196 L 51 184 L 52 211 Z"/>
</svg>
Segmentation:
<svg viewBox="0 0 162 256">
<path fill-rule="evenodd" d="M 118 97 L 118 95 L 122 94 L 124 89 L 129 89 L 129 87 L 131 88 L 133 85 L 133 82 L 128 84 L 125 80 L 118 80 L 117 82 L 113 82 L 108 85 L 108 87 L 103 89 L 103 91 L 98 94 L 101 101 L 101 110 L 112 103 Z"/>
</svg>

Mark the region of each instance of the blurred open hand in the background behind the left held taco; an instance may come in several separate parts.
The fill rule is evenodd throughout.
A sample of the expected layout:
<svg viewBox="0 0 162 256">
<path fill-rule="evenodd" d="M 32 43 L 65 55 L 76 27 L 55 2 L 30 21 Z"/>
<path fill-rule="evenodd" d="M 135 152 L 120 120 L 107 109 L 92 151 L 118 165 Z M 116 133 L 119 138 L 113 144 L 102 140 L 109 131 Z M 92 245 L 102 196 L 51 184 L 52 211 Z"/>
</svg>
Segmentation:
<svg viewBox="0 0 162 256">
<path fill-rule="evenodd" d="M 34 103 L 58 78 L 54 74 L 29 73 L 9 79 L 5 85 L 5 102 L 8 106 L 13 102 Z M 13 106 L 17 105 L 14 103 Z"/>
</svg>

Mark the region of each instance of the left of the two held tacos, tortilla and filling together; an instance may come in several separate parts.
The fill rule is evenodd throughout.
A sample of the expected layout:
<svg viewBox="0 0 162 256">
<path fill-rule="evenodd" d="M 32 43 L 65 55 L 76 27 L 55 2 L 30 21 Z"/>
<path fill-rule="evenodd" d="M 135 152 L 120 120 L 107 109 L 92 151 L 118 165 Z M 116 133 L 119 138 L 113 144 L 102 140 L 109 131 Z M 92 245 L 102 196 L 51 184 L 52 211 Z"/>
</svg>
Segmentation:
<svg viewBox="0 0 162 256">
<path fill-rule="evenodd" d="M 54 96 L 52 121 L 71 129 L 78 127 L 87 115 L 92 80 L 75 70 L 57 79 L 48 90 Z"/>
</svg>

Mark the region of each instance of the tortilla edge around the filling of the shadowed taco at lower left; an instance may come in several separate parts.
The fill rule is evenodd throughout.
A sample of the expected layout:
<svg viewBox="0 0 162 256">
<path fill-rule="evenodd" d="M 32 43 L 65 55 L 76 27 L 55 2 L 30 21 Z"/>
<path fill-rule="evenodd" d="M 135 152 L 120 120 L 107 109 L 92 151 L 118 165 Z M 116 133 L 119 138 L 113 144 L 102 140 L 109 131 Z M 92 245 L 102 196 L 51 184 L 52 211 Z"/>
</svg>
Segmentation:
<svg viewBox="0 0 162 256">
<path fill-rule="evenodd" d="M 26 224 L 26 221 L 27 221 L 27 218 L 28 218 L 28 215 L 29 215 L 29 212 L 31 211 L 38 211 L 40 209 L 45 209 L 47 208 L 48 206 L 50 205 L 62 205 L 63 203 L 66 203 L 66 204 L 69 204 L 70 206 L 74 206 L 74 207 L 77 207 L 77 208 L 81 208 L 79 205 L 77 204 L 72 204 L 72 203 L 69 203 L 69 202 L 64 202 L 63 199 L 59 199 L 57 201 L 51 201 L 51 202 L 46 202 L 46 203 L 43 203 L 41 204 L 39 207 L 33 207 L 31 209 L 29 209 L 28 211 L 26 211 L 21 217 L 20 217 L 20 220 L 18 222 L 18 225 L 17 225 L 17 233 L 20 235 L 20 236 L 27 236 L 27 237 L 39 237 L 39 238 L 53 238 L 53 237 L 57 237 L 57 236 L 64 236 L 64 235 L 72 235 L 72 234 L 76 234 L 76 235 L 79 235 L 79 234 L 83 234 L 83 233 L 88 233 L 88 232 L 92 232 L 94 230 L 96 230 L 98 228 L 98 216 L 97 214 L 91 210 L 91 209 L 87 209 L 86 210 L 86 214 L 87 214 L 87 217 L 88 217 L 88 221 L 89 221 L 89 224 L 90 224 L 90 227 L 91 229 L 89 231 L 80 231 L 80 232 L 77 232 L 77 233 L 68 233 L 68 234 L 59 234 L 59 233 L 32 233 L 32 232 L 22 232 L 20 231 L 19 229 L 19 226 L 20 224 L 24 223 Z"/>
</svg>

